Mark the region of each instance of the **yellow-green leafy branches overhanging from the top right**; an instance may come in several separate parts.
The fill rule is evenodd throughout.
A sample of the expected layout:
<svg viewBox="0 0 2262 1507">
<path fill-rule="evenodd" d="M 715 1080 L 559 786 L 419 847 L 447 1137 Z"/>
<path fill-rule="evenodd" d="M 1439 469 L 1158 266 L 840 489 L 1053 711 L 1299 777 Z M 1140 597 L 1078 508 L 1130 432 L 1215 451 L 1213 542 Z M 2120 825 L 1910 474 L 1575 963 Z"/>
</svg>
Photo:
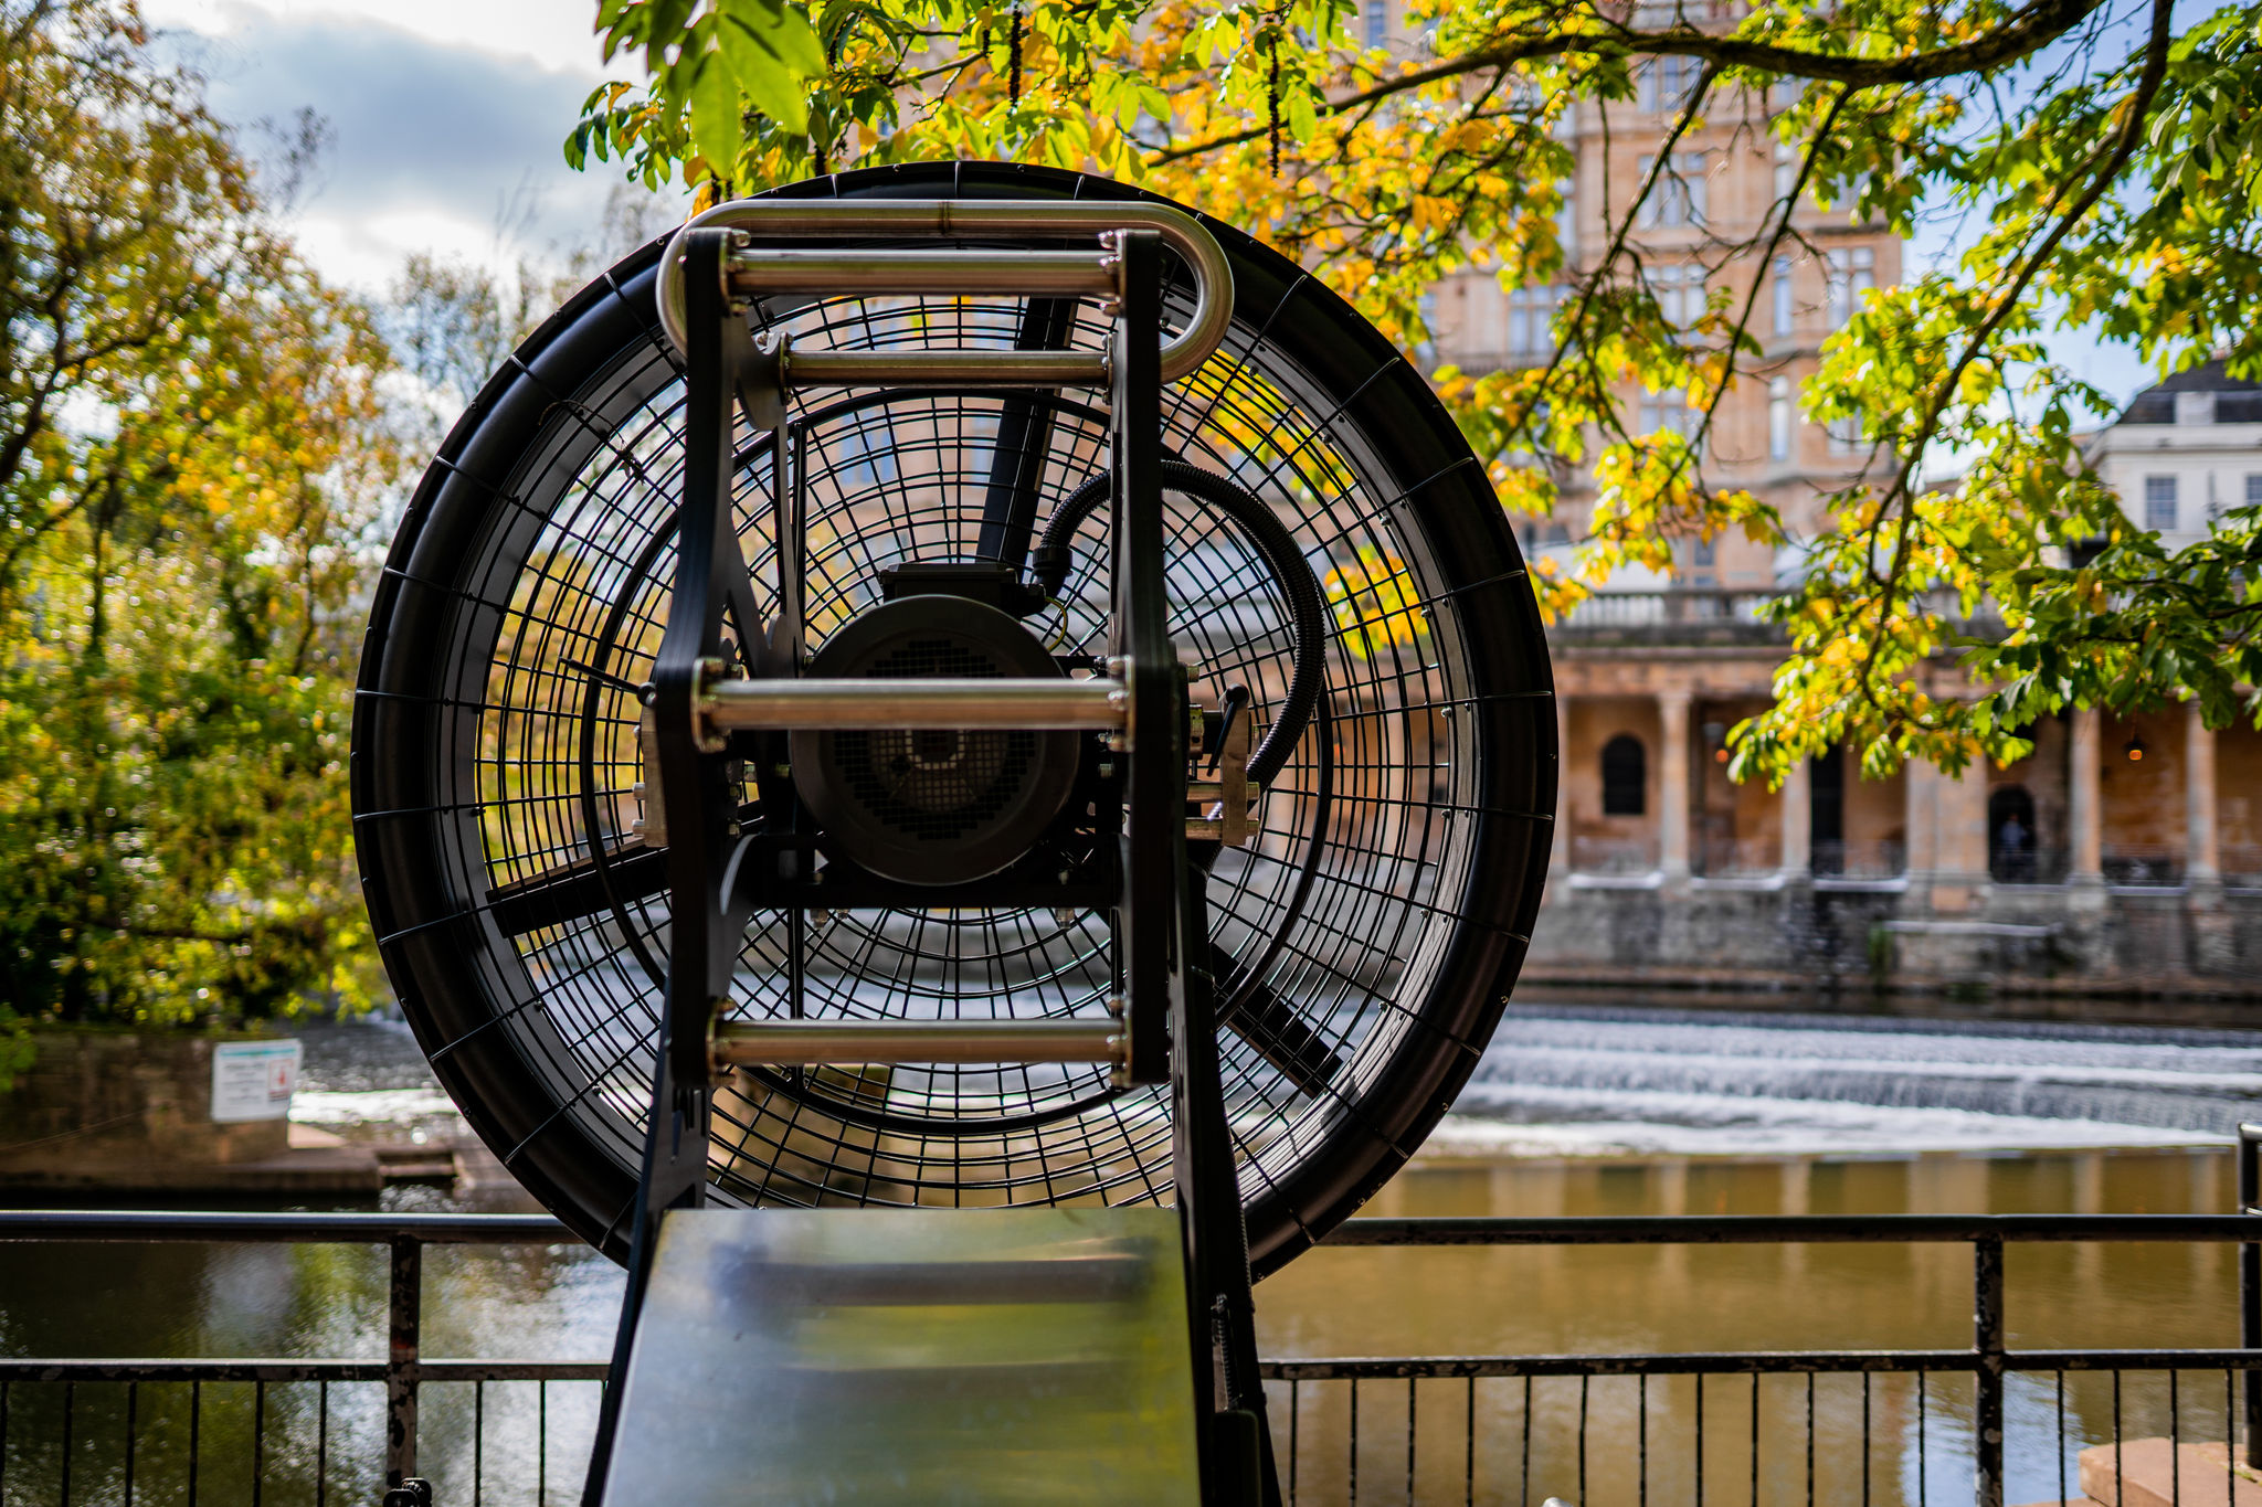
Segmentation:
<svg viewBox="0 0 2262 1507">
<path fill-rule="evenodd" d="M 1448 368 L 1439 386 L 1509 508 L 1547 517 L 1583 472 L 1586 545 L 1534 581 L 1549 612 L 1617 569 L 1674 569 L 1676 540 L 1733 531 L 1803 560 L 1778 601 L 1778 700 L 1735 732 L 1739 777 L 1780 779 L 1832 743 L 1868 773 L 2009 759 L 2022 725 L 2067 705 L 2196 696 L 2212 725 L 2262 718 L 2262 517 L 2233 506 L 2183 551 L 2135 529 L 2077 443 L 2110 402 L 2043 346 L 2083 325 L 2162 371 L 2226 350 L 2233 375 L 2262 377 L 2262 5 L 2178 20 L 2169 0 L 1407 0 L 1398 47 L 1362 45 L 1364 16 L 1350 0 L 602 0 L 606 56 L 647 77 L 597 88 L 566 154 L 706 199 L 934 158 L 1113 174 L 1271 242 L 1409 348 L 1445 273 L 1565 287 L 1552 364 Z M 1574 264 L 1570 111 L 1633 102 L 1658 59 L 1687 93 L 1642 127 L 1604 251 Z M 1687 131 L 1728 122 L 1787 172 L 1758 230 L 1692 237 L 1719 282 L 1667 316 L 1642 206 L 1681 192 Z M 1821 499 L 1819 535 L 1706 474 L 1721 395 L 1764 382 L 1751 269 L 1821 255 L 1798 206 L 1896 235 L 1957 217 L 1963 246 L 1825 341 L 1805 413 L 1859 420 L 1868 470 Z M 1642 393 L 1694 413 L 1638 432 Z M 1950 461 L 1957 481 L 1925 481 Z M 1950 601 L 1993 603 L 2009 637 L 1961 635 Z"/>
</svg>

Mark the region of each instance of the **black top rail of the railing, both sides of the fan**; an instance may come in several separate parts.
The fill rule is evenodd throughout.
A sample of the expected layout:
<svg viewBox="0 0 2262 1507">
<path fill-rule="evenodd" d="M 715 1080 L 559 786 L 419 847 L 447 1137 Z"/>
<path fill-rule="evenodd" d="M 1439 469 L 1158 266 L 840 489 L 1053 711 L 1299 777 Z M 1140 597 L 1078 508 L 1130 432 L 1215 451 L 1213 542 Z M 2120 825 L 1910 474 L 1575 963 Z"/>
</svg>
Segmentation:
<svg viewBox="0 0 2262 1507">
<path fill-rule="evenodd" d="M 547 1213 L 235 1213 L 174 1209 L 5 1209 L 5 1240 L 176 1240 L 382 1245 L 579 1243 Z M 1676 1216 L 1425 1216 L 1362 1218 L 1321 1245 L 1968 1245 L 1972 1240 L 2257 1243 L 2244 1213 L 1676 1213 Z"/>
</svg>

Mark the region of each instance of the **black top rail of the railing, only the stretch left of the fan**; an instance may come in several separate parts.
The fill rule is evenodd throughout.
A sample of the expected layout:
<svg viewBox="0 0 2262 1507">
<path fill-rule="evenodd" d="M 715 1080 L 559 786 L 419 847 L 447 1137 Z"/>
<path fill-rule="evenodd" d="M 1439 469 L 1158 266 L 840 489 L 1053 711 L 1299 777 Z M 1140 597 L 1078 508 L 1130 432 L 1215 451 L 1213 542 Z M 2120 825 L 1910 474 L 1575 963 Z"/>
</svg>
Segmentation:
<svg viewBox="0 0 2262 1507">
<path fill-rule="evenodd" d="M 579 1243 L 547 1213 L 238 1213 L 174 1209 L 0 1209 L 0 1240 L 185 1240 L 385 1245 Z"/>
</svg>

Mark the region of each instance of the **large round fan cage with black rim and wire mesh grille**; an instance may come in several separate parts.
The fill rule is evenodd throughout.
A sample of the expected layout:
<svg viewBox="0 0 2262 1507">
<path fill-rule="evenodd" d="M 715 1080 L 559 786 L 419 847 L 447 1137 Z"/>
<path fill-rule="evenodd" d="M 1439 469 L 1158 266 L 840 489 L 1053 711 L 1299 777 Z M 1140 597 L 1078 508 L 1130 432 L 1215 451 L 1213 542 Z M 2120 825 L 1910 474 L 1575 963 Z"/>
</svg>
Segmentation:
<svg viewBox="0 0 2262 1507">
<path fill-rule="evenodd" d="M 1002 165 L 780 192 L 1136 197 Z M 1253 696 L 1260 820 L 1208 895 L 1226 1114 L 1264 1274 L 1405 1161 L 1491 1035 L 1545 877 L 1556 723 L 1513 533 L 1443 407 L 1346 303 L 1208 228 L 1233 262 L 1233 328 L 1165 391 L 1163 443 L 1233 486 L 1197 493 L 1172 472 L 1169 633 L 1197 705 Z M 667 965 L 665 861 L 636 784 L 683 474 L 656 264 L 658 242 L 575 296 L 448 436 L 373 603 L 353 741 L 364 888 L 407 1019 L 480 1136 L 615 1258 Z M 1190 278 L 1167 267 L 1176 330 Z M 798 298 L 751 316 L 801 350 L 979 348 L 1016 341 L 1022 300 Z M 1083 300 L 1068 341 L 1099 346 L 1106 328 Z M 1007 400 L 792 398 L 812 651 L 880 603 L 880 572 L 975 558 Z M 1106 395 L 1022 402 L 1050 420 L 1020 427 L 1043 438 L 1022 470 L 1041 542 L 1072 547 L 1027 628 L 1054 655 L 1104 655 L 1108 508 L 1088 484 L 1106 477 Z M 735 524 L 765 619 L 769 468 L 769 436 L 742 423 Z M 1298 651 L 1316 680 L 1301 716 Z M 731 1019 L 1093 1017 L 1108 992 L 1095 911 L 758 913 Z M 1115 1089 L 1102 1066 L 742 1069 L 713 1109 L 722 1204 L 1172 1195 L 1167 1087 Z"/>
</svg>

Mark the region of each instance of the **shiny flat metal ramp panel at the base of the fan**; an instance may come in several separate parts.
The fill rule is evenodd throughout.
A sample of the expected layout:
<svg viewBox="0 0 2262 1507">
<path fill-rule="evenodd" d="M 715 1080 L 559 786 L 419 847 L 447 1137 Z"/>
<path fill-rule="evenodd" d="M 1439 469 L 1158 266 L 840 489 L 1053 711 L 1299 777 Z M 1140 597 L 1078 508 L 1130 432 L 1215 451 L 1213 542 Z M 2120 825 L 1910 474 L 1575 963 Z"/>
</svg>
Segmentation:
<svg viewBox="0 0 2262 1507">
<path fill-rule="evenodd" d="M 1172 1209 L 674 1209 L 615 1507 L 1199 1502 Z"/>
</svg>

